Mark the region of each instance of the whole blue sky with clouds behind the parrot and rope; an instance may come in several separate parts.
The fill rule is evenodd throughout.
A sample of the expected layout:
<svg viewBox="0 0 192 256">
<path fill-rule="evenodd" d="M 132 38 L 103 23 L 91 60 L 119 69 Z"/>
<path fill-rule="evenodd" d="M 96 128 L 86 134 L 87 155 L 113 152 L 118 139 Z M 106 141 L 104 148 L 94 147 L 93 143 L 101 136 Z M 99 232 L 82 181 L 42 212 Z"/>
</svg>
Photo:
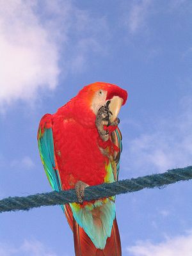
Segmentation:
<svg viewBox="0 0 192 256">
<path fill-rule="evenodd" d="M 192 2 L 0 0 L 0 198 L 51 191 L 36 131 L 84 85 L 118 84 L 120 179 L 192 163 Z M 191 256 L 192 182 L 116 197 L 123 256 Z M 5 212 L 1 256 L 72 256 L 59 206 Z"/>
</svg>

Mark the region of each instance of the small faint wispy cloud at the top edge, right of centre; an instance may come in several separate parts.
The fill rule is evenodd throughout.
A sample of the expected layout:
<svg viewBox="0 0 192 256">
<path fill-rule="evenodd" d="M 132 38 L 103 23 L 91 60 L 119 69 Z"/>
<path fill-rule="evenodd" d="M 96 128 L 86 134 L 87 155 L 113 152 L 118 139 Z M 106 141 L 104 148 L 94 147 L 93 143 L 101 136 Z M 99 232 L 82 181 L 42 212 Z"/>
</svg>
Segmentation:
<svg viewBox="0 0 192 256">
<path fill-rule="evenodd" d="M 128 16 L 125 17 L 125 25 L 131 33 L 136 33 L 145 26 L 148 15 L 148 8 L 151 0 L 134 1 Z"/>
</svg>

